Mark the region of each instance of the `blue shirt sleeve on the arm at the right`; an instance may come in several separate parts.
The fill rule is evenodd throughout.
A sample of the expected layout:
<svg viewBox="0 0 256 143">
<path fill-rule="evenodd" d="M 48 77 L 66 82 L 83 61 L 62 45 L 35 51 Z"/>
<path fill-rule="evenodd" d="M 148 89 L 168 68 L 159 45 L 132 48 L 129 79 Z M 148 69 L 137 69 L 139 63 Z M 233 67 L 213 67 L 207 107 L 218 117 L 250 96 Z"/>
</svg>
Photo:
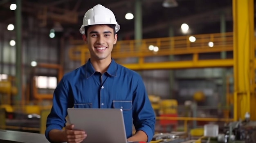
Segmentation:
<svg viewBox="0 0 256 143">
<path fill-rule="evenodd" d="M 133 123 L 136 132 L 138 130 L 145 132 L 148 136 L 147 142 L 149 142 L 153 139 L 155 132 L 155 113 L 140 76 L 134 91 L 133 107 Z"/>
</svg>

